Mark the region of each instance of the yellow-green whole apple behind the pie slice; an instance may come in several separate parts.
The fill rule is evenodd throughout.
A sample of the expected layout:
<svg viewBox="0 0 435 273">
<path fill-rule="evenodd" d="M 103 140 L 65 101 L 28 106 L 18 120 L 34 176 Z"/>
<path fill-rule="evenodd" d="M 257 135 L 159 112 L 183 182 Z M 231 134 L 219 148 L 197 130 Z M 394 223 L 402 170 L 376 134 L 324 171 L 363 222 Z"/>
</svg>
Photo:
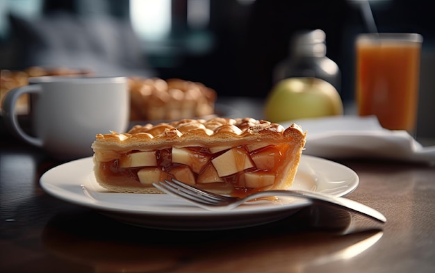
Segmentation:
<svg viewBox="0 0 435 273">
<path fill-rule="evenodd" d="M 286 78 L 270 90 L 264 114 L 270 122 L 277 123 L 343 115 L 343 102 L 336 88 L 320 78 Z"/>
</svg>

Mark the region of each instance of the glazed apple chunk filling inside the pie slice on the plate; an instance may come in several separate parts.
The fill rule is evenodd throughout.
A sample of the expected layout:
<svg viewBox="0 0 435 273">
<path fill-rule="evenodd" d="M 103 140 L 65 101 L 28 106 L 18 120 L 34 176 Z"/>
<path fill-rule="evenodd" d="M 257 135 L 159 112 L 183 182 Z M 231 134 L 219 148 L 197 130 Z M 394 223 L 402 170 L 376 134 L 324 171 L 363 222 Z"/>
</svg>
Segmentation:
<svg viewBox="0 0 435 273">
<path fill-rule="evenodd" d="M 107 172 L 129 174 L 142 185 L 174 178 L 199 188 L 229 184 L 232 191 L 249 192 L 274 185 L 286 149 L 279 144 L 256 150 L 245 145 L 213 149 L 215 153 L 204 147 L 131 151 L 113 160 Z"/>
</svg>

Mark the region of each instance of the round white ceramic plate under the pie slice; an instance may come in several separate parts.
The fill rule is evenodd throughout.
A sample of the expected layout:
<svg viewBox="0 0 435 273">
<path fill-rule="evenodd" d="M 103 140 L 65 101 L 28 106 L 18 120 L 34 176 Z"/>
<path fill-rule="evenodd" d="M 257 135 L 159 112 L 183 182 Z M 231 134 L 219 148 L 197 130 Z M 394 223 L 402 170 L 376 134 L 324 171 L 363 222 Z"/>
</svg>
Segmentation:
<svg viewBox="0 0 435 273">
<path fill-rule="evenodd" d="M 108 192 L 97 183 L 92 171 L 92 158 L 82 158 L 50 169 L 40 179 L 42 188 L 65 201 L 99 210 L 128 224 L 154 229 L 213 230 L 235 229 L 281 220 L 297 212 L 310 201 L 279 197 L 278 201 L 258 201 L 233 210 L 211 212 L 187 201 L 159 194 L 128 194 Z M 356 173 L 343 165 L 302 156 L 291 188 L 347 195 L 359 183 Z M 97 192 L 97 199 L 86 196 L 81 184 Z"/>
</svg>

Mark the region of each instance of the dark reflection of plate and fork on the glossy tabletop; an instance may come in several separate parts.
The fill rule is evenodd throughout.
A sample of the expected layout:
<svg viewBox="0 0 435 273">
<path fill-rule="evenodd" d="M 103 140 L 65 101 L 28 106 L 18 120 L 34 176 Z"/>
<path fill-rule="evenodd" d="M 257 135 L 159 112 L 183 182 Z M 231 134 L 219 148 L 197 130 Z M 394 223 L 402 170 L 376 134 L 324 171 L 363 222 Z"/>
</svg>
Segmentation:
<svg viewBox="0 0 435 273">
<path fill-rule="evenodd" d="M 352 258 L 382 235 L 377 229 L 340 235 L 349 215 L 332 217 L 336 225 L 324 229 L 307 213 L 247 229 L 188 232 L 128 226 L 93 212 L 67 213 L 51 218 L 42 244 L 56 258 L 96 272 L 224 272 L 240 265 L 238 272 L 254 272 L 268 265 L 296 270 Z"/>
</svg>

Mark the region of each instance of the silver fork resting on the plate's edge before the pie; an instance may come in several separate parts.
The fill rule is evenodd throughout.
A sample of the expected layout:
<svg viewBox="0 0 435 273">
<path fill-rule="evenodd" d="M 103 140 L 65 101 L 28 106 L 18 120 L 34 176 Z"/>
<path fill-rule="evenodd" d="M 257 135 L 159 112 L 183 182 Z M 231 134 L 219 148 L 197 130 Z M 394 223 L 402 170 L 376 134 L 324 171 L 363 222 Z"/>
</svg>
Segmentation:
<svg viewBox="0 0 435 273">
<path fill-rule="evenodd" d="M 190 201 L 190 203 L 206 210 L 231 210 L 237 206 L 240 206 L 246 201 L 261 197 L 275 197 L 281 195 L 309 199 L 313 202 L 313 204 L 331 205 L 345 209 L 347 211 L 358 213 L 378 222 L 386 222 L 386 217 L 373 208 L 350 199 L 334 197 L 320 192 L 311 192 L 306 190 L 268 190 L 256 192 L 252 195 L 248 195 L 245 198 L 239 198 L 217 195 L 213 192 L 208 192 L 195 186 L 187 185 L 186 183 L 182 183 L 176 179 L 172 179 L 172 181 L 159 181 L 158 183 L 153 183 L 153 185 L 159 190 L 166 192 L 168 195 L 181 197 L 187 201 Z"/>
</svg>

